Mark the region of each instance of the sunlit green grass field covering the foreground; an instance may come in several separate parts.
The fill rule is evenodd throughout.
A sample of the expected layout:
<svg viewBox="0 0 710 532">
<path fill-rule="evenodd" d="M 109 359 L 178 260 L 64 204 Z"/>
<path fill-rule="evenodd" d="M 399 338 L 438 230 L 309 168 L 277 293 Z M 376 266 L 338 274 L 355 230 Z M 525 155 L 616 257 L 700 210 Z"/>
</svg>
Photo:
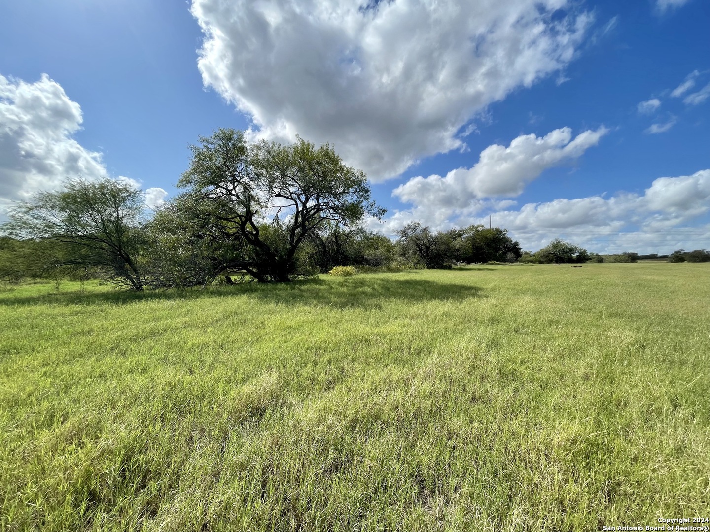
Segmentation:
<svg viewBox="0 0 710 532">
<path fill-rule="evenodd" d="M 3 531 L 710 516 L 710 264 L 0 293 Z"/>
</svg>

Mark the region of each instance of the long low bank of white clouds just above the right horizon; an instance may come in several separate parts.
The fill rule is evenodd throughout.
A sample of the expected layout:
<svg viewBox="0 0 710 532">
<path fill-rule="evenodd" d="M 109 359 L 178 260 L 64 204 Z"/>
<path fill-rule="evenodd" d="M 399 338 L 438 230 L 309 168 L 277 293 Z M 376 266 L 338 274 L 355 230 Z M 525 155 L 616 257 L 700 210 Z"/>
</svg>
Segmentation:
<svg viewBox="0 0 710 532">
<path fill-rule="evenodd" d="M 500 210 L 496 210 L 496 207 Z M 481 216 L 481 209 L 489 209 Z M 555 199 L 530 203 L 518 210 L 493 203 L 480 204 L 475 211 L 430 209 L 427 205 L 398 211 L 384 221 L 371 223 L 376 231 L 391 235 L 412 220 L 437 229 L 488 224 L 508 228 L 523 248 L 537 250 L 552 238 L 562 237 L 598 253 L 623 250 L 668 253 L 677 248 L 706 248 L 710 224 L 691 226 L 710 212 L 710 170 L 689 176 L 660 177 L 643 194 L 621 192 L 577 199 Z"/>
</svg>

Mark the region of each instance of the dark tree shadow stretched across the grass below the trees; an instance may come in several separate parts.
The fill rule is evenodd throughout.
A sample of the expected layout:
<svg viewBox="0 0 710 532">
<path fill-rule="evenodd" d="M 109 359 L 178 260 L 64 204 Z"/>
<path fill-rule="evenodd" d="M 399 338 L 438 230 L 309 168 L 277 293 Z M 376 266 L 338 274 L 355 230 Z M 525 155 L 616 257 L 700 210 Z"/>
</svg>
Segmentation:
<svg viewBox="0 0 710 532">
<path fill-rule="evenodd" d="M 207 289 L 151 292 L 59 292 L 0 297 L 0 306 L 106 305 L 142 301 L 182 301 L 203 297 L 247 296 L 271 304 L 359 307 L 373 309 L 385 301 L 445 301 L 478 297 L 481 289 L 469 284 L 435 282 L 395 277 L 349 277 L 346 279 L 304 279 L 290 283 L 247 283 Z"/>
</svg>

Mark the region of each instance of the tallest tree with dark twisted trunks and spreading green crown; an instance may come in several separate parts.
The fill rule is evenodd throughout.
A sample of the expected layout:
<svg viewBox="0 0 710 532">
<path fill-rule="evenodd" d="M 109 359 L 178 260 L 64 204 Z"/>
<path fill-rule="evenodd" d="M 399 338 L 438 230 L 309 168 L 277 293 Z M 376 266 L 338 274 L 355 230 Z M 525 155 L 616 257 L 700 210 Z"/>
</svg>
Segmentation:
<svg viewBox="0 0 710 532">
<path fill-rule="evenodd" d="M 192 240 L 210 243 L 213 275 L 243 270 L 258 281 L 289 281 L 310 235 L 385 212 L 371 201 L 365 174 L 344 165 L 328 144 L 248 143 L 233 129 L 200 143 L 191 147 L 173 214 L 190 217 Z M 181 214 L 180 205 L 190 213 Z"/>
</svg>

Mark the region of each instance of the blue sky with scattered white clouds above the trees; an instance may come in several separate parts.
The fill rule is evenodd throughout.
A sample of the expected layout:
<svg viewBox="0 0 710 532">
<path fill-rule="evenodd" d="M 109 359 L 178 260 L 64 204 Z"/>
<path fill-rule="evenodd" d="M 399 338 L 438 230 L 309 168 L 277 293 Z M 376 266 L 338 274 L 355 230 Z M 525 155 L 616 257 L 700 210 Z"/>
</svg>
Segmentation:
<svg viewBox="0 0 710 532">
<path fill-rule="evenodd" d="M 0 217 L 65 177 L 154 209 L 217 128 L 329 142 L 392 236 L 710 248 L 708 0 L 27 0 L 0 6 Z"/>
</svg>

